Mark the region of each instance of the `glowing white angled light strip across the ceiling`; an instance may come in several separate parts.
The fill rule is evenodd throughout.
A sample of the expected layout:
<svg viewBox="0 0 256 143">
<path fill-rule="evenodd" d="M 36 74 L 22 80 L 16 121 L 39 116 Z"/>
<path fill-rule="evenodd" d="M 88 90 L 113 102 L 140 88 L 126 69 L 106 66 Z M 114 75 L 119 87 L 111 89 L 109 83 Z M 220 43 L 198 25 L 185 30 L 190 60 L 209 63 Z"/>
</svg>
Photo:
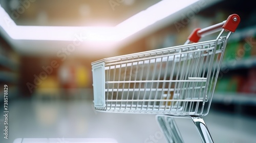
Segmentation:
<svg viewBox="0 0 256 143">
<path fill-rule="evenodd" d="M 124 20 L 115 27 L 17 26 L 0 5 L 0 26 L 12 39 L 120 41 L 199 0 L 163 0 Z"/>
</svg>

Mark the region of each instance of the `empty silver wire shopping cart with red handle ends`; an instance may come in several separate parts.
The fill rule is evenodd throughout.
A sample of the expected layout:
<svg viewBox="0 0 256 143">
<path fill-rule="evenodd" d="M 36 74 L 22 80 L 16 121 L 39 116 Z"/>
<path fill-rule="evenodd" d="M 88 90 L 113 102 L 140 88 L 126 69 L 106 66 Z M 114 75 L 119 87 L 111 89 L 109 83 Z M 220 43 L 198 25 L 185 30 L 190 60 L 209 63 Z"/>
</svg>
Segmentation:
<svg viewBox="0 0 256 143">
<path fill-rule="evenodd" d="M 209 111 L 227 40 L 239 22 L 239 15 L 232 14 L 217 25 L 195 29 L 184 45 L 93 62 L 95 109 L 158 114 L 168 142 L 184 142 L 174 118 L 188 117 L 202 141 L 213 142 L 200 116 Z M 215 40 L 198 42 L 218 31 Z"/>
</svg>

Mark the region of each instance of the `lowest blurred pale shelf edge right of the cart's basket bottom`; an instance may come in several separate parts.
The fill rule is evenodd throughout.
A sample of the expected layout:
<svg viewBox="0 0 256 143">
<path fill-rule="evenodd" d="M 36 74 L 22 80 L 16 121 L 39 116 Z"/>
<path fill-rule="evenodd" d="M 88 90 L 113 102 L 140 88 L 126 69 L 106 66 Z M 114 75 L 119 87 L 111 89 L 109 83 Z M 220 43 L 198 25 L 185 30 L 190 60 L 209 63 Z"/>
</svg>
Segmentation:
<svg viewBox="0 0 256 143">
<path fill-rule="evenodd" d="M 212 97 L 212 103 L 224 104 L 240 104 L 240 105 L 253 105 L 256 106 L 255 93 L 215 93 Z"/>
</svg>

